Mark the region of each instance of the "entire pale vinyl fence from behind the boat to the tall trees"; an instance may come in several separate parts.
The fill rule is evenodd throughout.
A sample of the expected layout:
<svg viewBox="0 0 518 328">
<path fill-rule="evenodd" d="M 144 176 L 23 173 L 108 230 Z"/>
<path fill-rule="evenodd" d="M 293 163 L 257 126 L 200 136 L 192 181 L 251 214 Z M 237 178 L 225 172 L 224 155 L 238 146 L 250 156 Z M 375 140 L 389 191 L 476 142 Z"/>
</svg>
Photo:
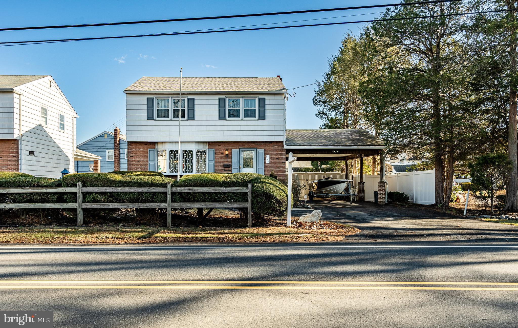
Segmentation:
<svg viewBox="0 0 518 328">
<path fill-rule="evenodd" d="M 298 180 L 304 187 L 303 191 L 300 193 L 300 198 L 304 198 L 304 195 L 308 194 L 309 182 L 328 177 L 334 179 L 346 179 L 346 174 L 331 172 L 293 173 L 293 180 Z M 410 197 L 410 202 L 426 205 L 435 203 L 434 178 L 435 170 L 412 171 L 385 176 L 385 180 L 387 181 L 387 191 L 407 193 Z M 356 174 L 353 177 L 354 188 L 358 187 L 358 181 L 359 175 Z M 365 181 L 365 200 L 368 202 L 374 202 L 374 192 L 378 191 L 378 181 L 380 181 L 380 176 L 364 174 L 363 181 Z"/>
</svg>

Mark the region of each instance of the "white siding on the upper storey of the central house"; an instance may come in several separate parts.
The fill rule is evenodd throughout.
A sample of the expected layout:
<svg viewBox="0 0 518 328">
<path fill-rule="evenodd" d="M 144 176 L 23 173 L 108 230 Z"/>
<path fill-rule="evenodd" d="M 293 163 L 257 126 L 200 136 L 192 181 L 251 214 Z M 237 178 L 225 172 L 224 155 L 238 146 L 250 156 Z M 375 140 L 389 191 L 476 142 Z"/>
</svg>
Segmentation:
<svg viewBox="0 0 518 328">
<path fill-rule="evenodd" d="M 126 94 L 128 141 L 165 142 L 178 140 L 178 120 L 147 120 L 148 97 L 156 94 Z M 174 97 L 174 95 L 171 95 Z M 183 96 L 182 96 L 183 97 Z M 219 120 L 218 98 L 228 94 L 189 94 L 194 98 L 194 120 L 182 120 L 183 141 L 284 141 L 286 102 L 284 94 L 247 94 L 236 98 L 266 98 L 266 119 Z M 156 99 L 155 99 L 156 100 Z M 226 100 L 226 99 L 225 99 Z M 258 101 L 256 101 L 258 107 Z M 225 101 L 226 111 L 226 101 Z"/>
</svg>

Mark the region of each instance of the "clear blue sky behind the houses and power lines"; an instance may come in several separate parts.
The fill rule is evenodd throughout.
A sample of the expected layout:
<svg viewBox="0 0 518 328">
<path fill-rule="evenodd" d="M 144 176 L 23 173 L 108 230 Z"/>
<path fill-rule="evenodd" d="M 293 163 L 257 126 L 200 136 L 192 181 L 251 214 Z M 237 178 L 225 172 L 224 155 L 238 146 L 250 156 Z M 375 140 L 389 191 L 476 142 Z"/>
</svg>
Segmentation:
<svg viewBox="0 0 518 328">
<path fill-rule="evenodd" d="M 10 1 L 2 4 L 1 27 L 80 24 L 241 13 L 375 5 L 382 1 Z M 173 22 L 60 30 L 0 32 L 2 41 L 167 33 L 216 27 L 333 18 L 289 24 L 368 20 L 383 8 L 259 18 Z M 7 14 L 7 15 L 6 15 Z M 322 78 L 327 59 L 343 36 L 363 24 L 284 30 L 64 42 L 0 48 L 0 74 L 52 75 L 78 112 L 77 142 L 117 121 L 125 130 L 124 88 L 141 76 L 280 75 L 286 88 Z M 291 92 L 291 91 L 290 91 Z M 314 85 L 296 90 L 287 102 L 287 129 L 318 129 Z"/>
</svg>

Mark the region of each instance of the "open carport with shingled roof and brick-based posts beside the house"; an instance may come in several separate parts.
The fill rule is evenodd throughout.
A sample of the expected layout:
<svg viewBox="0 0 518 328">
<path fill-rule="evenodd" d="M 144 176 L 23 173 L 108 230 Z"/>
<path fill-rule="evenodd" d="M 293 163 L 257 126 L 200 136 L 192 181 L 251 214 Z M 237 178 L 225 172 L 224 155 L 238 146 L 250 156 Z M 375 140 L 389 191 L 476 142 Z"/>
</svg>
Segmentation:
<svg viewBox="0 0 518 328">
<path fill-rule="evenodd" d="M 385 145 L 381 139 L 363 129 L 344 130 L 286 130 L 286 161 L 288 163 L 288 213 L 287 225 L 291 225 L 291 186 L 294 161 L 349 161 L 360 160 L 358 199 L 365 201 L 365 182 L 363 181 L 363 158 L 379 155 L 384 162 Z M 346 169 L 349 175 L 349 170 Z M 349 179 L 349 177 L 348 177 Z M 385 204 L 386 181 L 381 170 L 378 182 L 378 203 Z"/>
</svg>

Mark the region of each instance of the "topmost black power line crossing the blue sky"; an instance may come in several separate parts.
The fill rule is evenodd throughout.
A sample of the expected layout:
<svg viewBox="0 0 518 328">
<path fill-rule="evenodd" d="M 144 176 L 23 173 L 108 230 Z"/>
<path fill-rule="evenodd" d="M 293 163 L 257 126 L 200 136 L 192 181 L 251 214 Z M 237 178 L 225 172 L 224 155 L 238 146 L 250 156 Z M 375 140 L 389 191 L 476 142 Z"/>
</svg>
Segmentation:
<svg viewBox="0 0 518 328">
<path fill-rule="evenodd" d="M 27 27 L 4 27 L 4 28 L 0 28 L 0 31 L 22 31 L 22 30 L 42 30 L 42 29 L 47 29 L 47 28 L 70 28 L 70 27 L 93 27 L 93 26 L 149 24 L 149 23 L 166 23 L 166 22 L 185 22 L 185 21 L 199 21 L 199 20 L 213 20 L 213 19 L 227 19 L 227 18 L 243 18 L 243 17 L 261 17 L 261 16 L 275 16 L 275 15 L 290 15 L 290 14 L 294 14 L 294 13 L 310 13 L 310 12 L 312 13 L 312 12 L 339 11 L 339 10 L 352 10 L 352 9 L 398 7 L 398 6 L 436 4 L 436 3 L 457 2 L 457 1 L 463 1 L 463 0 L 430 0 L 430 1 L 419 1 L 419 2 L 409 2 L 409 3 L 384 4 L 384 5 L 340 7 L 340 8 L 326 8 L 326 9 L 309 9 L 309 10 L 294 10 L 294 11 L 277 11 L 277 12 L 249 13 L 249 14 L 242 14 L 242 15 L 208 16 L 208 17 L 192 17 L 192 18 L 174 18 L 174 19 L 127 21 L 127 22 L 112 22 L 112 23 L 70 24 L 70 25 L 49 25 L 49 26 L 27 26 Z"/>
</svg>

